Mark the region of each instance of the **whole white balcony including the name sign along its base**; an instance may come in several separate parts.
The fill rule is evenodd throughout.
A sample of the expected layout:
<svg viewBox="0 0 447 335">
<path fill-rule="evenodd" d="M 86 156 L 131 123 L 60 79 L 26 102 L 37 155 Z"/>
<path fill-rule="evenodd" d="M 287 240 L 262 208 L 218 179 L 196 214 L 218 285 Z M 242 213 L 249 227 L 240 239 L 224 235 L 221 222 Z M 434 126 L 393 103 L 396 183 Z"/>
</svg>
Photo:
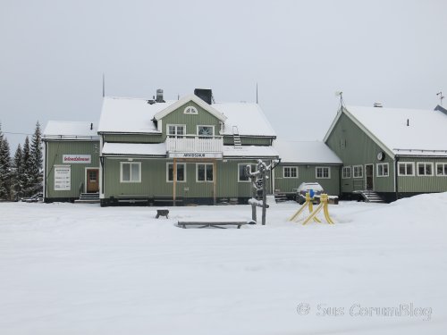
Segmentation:
<svg viewBox="0 0 447 335">
<path fill-rule="evenodd" d="M 170 158 L 222 158 L 223 137 L 166 138 L 166 151 Z"/>
</svg>

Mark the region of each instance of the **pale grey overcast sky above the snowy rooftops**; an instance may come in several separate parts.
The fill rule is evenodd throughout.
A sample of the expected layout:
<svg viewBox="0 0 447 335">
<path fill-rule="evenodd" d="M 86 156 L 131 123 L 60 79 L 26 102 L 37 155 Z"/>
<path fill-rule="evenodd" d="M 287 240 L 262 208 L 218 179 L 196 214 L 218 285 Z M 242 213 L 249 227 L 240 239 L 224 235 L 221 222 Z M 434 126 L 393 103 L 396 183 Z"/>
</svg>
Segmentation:
<svg viewBox="0 0 447 335">
<path fill-rule="evenodd" d="M 0 121 L 99 120 L 107 96 L 256 101 L 278 136 L 322 139 L 346 105 L 447 96 L 447 1 L 0 0 Z M 447 99 L 445 104 L 447 105 Z"/>
</svg>

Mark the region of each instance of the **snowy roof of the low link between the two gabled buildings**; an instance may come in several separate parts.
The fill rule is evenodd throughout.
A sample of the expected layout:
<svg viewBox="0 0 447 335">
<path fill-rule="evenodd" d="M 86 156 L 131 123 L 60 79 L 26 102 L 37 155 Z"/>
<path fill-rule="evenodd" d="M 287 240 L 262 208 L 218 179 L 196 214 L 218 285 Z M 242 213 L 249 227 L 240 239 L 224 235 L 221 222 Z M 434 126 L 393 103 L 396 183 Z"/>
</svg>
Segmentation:
<svg viewBox="0 0 447 335">
<path fill-rule="evenodd" d="M 274 148 L 281 157 L 281 163 L 342 164 L 342 160 L 321 141 L 276 139 Z"/>
</svg>

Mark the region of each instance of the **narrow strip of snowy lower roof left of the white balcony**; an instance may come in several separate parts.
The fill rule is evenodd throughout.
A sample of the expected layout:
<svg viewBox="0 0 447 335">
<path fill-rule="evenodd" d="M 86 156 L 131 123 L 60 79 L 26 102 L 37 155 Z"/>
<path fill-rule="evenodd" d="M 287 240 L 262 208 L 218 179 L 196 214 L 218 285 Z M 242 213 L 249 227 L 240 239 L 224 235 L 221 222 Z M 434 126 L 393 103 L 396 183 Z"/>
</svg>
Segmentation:
<svg viewBox="0 0 447 335">
<path fill-rule="evenodd" d="M 102 155 L 140 155 L 165 156 L 164 143 L 108 143 L 102 149 Z"/>
</svg>

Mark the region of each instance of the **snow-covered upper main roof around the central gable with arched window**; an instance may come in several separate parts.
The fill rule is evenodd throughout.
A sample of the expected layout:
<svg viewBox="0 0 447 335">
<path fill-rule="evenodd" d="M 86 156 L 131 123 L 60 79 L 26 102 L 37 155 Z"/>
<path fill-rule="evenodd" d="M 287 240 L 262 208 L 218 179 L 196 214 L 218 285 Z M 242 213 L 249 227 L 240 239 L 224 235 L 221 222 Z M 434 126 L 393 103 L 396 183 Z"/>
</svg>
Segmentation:
<svg viewBox="0 0 447 335">
<path fill-rule="evenodd" d="M 201 101 L 197 96 L 187 96 L 179 101 L 148 104 L 147 99 L 128 97 L 105 97 L 99 120 L 99 132 L 117 133 L 159 133 L 154 121 L 156 116 L 163 117 L 173 108 L 186 104 L 190 99 Z M 196 101 L 194 100 L 194 101 Z M 216 103 L 207 105 L 206 109 L 224 121 L 223 135 L 232 135 L 233 126 L 239 130 L 240 136 L 274 137 L 275 133 L 267 121 L 265 114 L 257 104 L 248 103 Z M 216 116 L 216 117 L 217 117 Z"/>
</svg>

